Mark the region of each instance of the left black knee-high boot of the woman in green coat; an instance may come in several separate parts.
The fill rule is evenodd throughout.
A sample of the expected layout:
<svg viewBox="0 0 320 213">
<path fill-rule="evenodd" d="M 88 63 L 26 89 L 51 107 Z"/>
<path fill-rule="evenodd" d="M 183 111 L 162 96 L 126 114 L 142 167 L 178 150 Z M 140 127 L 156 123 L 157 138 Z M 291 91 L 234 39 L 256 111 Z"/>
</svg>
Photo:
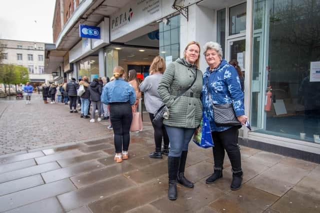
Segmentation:
<svg viewBox="0 0 320 213">
<path fill-rule="evenodd" d="M 169 176 L 169 189 L 168 199 L 176 199 L 176 176 L 178 173 L 180 158 L 179 157 L 168 157 L 168 176 Z"/>
</svg>

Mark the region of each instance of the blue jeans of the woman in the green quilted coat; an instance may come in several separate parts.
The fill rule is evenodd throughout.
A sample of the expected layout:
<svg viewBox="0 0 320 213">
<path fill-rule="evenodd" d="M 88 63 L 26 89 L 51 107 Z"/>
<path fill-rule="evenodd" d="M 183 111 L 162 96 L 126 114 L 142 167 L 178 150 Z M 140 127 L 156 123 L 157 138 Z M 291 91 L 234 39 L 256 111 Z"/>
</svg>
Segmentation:
<svg viewBox="0 0 320 213">
<path fill-rule="evenodd" d="M 195 129 L 170 127 L 166 125 L 164 126 L 170 141 L 170 150 L 168 156 L 180 157 L 182 151 L 188 150 L 188 145 Z"/>
</svg>

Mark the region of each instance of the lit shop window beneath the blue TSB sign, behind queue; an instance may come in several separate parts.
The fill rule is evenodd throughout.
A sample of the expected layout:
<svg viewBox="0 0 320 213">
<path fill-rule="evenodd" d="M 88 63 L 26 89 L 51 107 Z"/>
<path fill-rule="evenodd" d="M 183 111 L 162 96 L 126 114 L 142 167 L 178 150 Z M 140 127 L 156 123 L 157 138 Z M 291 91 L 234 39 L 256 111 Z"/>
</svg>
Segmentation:
<svg viewBox="0 0 320 213">
<path fill-rule="evenodd" d="M 89 82 L 99 77 L 98 56 L 88 56 L 79 62 L 78 78 L 87 76 Z"/>
</svg>

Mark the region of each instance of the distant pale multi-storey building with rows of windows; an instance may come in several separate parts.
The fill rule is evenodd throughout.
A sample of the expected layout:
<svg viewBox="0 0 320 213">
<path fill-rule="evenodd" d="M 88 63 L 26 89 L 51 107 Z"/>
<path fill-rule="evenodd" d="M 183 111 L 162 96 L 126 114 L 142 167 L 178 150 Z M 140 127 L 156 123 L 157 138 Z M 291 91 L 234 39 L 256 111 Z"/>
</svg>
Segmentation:
<svg viewBox="0 0 320 213">
<path fill-rule="evenodd" d="M 52 80 L 44 73 L 44 43 L 0 39 L 4 58 L 2 63 L 24 66 L 29 72 L 31 84 L 39 85 Z"/>
</svg>

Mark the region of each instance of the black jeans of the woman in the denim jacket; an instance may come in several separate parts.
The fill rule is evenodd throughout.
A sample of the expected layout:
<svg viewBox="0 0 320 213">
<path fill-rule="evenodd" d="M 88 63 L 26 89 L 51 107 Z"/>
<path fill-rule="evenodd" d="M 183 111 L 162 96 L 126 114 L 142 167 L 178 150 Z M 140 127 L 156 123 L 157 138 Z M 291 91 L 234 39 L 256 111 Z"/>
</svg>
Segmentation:
<svg viewBox="0 0 320 213">
<path fill-rule="evenodd" d="M 128 151 L 132 109 L 129 103 L 110 103 L 110 120 L 114 133 L 115 153 Z M 95 110 L 95 109 L 94 109 Z"/>
</svg>

